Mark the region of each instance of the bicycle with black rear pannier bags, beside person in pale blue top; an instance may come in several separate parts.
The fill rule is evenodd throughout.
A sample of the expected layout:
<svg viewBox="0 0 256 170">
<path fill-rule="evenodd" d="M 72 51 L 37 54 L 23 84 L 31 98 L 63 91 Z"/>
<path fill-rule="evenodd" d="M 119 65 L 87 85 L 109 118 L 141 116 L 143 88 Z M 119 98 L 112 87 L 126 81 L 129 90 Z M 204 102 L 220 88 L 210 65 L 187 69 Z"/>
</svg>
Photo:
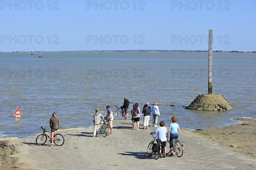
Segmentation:
<svg viewBox="0 0 256 170">
<path fill-rule="evenodd" d="M 161 144 L 161 140 L 156 139 L 157 135 L 153 135 L 154 140 L 152 140 L 149 144 L 148 144 L 148 156 L 153 156 L 154 154 L 154 158 L 158 159 L 160 157 L 160 154 L 163 153 L 162 150 L 164 151 L 164 147 Z M 154 141 L 156 141 L 157 143 L 155 143 Z"/>
</svg>

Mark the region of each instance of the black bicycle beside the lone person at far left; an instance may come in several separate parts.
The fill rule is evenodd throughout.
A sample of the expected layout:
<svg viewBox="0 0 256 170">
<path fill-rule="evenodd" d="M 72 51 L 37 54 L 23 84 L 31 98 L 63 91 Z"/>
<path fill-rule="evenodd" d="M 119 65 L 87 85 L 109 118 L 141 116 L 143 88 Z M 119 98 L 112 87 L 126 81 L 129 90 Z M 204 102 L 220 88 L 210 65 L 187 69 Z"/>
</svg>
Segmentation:
<svg viewBox="0 0 256 170">
<path fill-rule="evenodd" d="M 40 135 L 38 135 L 35 139 L 35 142 L 36 144 L 38 145 L 43 145 L 45 144 L 45 142 L 47 141 L 47 137 L 49 138 L 49 141 L 51 141 L 51 137 L 49 135 L 47 135 L 47 133 L 51 133 L 51 132 L 47 132 L 46 129 L 44 129 L 42 126 L 41 126 L 41 129 L 43 130 L 43 133 L 41 133 Z M 59 134 L 59 133 L 56 133 L 54 135 L 54 144 L 57 145 L 57 146 L 62 146 L 64 144 L 64 137 L 63 135 Z"/>
</svg>

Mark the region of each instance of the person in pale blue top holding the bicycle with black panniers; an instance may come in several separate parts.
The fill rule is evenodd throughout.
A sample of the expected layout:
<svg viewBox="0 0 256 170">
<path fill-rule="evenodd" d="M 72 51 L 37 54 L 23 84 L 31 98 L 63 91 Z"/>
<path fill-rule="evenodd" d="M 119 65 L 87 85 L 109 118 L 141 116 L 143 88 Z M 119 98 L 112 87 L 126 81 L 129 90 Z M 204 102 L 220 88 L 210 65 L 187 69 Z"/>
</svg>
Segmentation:
<svg viewBox="0 0 256 170">
<path fill-rule="evenodd" d="M 160 121 L 159 125 L 160 125 L 160 127 L 158 127 L 157 130 L 155 130 L 154 132 L 151 132 L 150 135 L 157 133 L 157 139 L 161 140 L 161 144 L 164 147 L 164 156 L 163 156 L 163 158 L 165 158 L 165 156 L 166 156 L 166 144 L 167 144 L 167 138 L 166 138 L 167 130 L 166 130 L 166 127 L 164 127 L 164 125 L 165 125 L 164 121 Z M 160 158 L 162 158 L 162 153 L 161 153 Z"/>
</svg>

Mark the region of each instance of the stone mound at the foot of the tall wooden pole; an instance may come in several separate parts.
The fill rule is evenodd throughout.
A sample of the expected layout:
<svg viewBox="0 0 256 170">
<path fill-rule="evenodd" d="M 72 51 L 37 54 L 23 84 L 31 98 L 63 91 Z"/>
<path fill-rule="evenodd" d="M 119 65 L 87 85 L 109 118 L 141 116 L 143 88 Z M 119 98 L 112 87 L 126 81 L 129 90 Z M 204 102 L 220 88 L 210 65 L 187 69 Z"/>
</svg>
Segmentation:
<svg viewBox="0 0 256 170">
<path fill-rule="evenodd" d="M 225 111 L 231 110 L 232 106 L 222 95 L 202 94 L 198 95 L 186 109 L 200 111 Z"/>
</svg>

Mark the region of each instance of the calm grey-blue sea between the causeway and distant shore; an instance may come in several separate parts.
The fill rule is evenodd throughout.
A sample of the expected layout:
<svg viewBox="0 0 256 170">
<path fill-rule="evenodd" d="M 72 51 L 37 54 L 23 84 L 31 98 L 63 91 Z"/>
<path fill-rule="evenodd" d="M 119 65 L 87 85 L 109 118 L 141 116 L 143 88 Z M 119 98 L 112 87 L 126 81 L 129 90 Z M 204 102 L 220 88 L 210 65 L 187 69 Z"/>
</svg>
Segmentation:
<svg viewBox="0 0 256 170">
<path fill-rule="evenodd" d="M 159 120 L 204 129 L 237 123 L 234 117 L 256 118 L 256 54 L 214 53 L 213 93 L 233 106 L 227 112 L 184 109 L 208 93 L 208 53 L 54 52 L 0 54 L 0 136 L 26 137 L 49 130 L 57 112 L 61 129 L 88 127 L 93 113 L 105 106 L 158 102 Z M 13 115 L 19 107 L 23 115 Z M 132 104 L 130 104 L 130 109 Z M 119 116 L 119 118 L 121 118 Z M 151 122 L 151 120 L 150 120 Z M 142 122 L 140 123 L 142 124 Z"/>
</svg>

